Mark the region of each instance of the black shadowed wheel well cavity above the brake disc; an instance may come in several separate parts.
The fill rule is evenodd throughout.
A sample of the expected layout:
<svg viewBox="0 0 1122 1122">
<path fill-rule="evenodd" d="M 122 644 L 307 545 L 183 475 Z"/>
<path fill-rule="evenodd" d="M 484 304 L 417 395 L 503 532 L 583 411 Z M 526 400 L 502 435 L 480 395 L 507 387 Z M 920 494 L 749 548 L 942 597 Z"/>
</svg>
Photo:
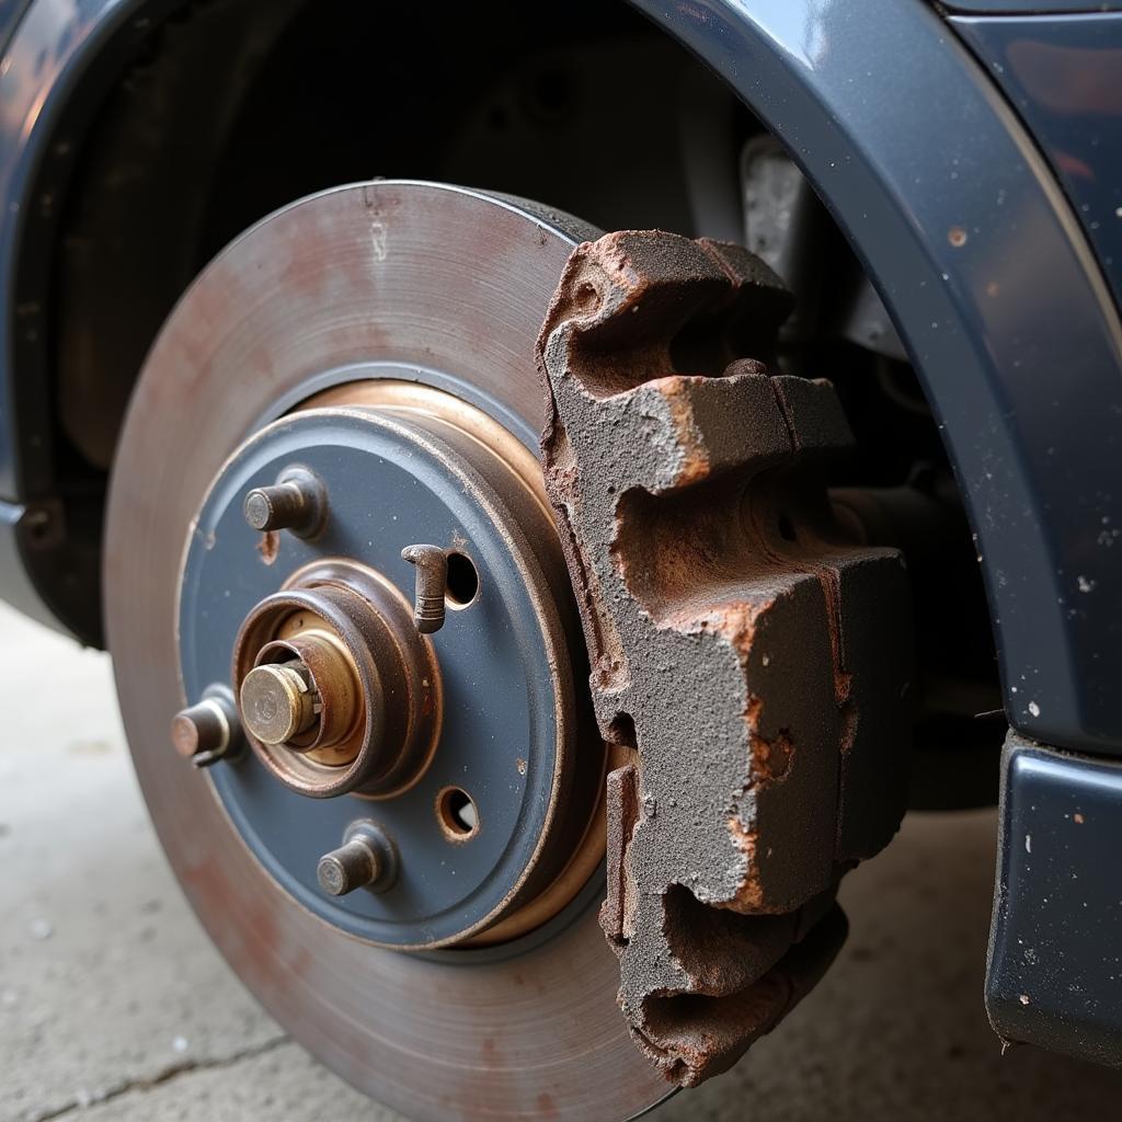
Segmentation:
<svg viewBox="0 0 1122 1122">
<path fill-rule="evenodd" d="M 429 26 L 403 7 L 218 0 L 153 31 L 85 138 L 61 222 L 57 412 L 91 468 L 108 470 L 178 294 L 294 199 L 407 176 L 541 199 L 604 228 L 692 232 L 682 149 L 699 120 L 735 184 L 749 114 L 641 16 L 589 2 L 564 25 L 517 3 L 487 12 Z M 705 232 L 735 233 L 726 196 Z"/>
</svg>

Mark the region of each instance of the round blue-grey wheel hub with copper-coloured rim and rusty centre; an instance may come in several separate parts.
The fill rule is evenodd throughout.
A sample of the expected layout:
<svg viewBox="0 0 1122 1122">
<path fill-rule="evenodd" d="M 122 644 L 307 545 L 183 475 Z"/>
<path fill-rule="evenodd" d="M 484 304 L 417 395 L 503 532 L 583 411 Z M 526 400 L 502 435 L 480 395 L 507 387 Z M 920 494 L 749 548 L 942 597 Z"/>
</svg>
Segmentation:
<svg viewBox="0 0 1122 1122">
<path fill-rule="evenodd" d="M 470 595 L 445 577 L 431 635 L 416 550 L 470 573 Z M 190 705 L 229 681 L 252 752 L 211 772 L 215 793 L 304 907 L 420 949 L 499 921 L 509 938 L 564 905 L 526 911 L 588 833 L 604 749 L 573 688 L 562 565 L 532 456 L 441 390 L 340 387 L 222 467 L 186 544 L 183 688 Z M 324 892 L 320 857 L 359 820 L 399 873 Z"/>
</svg>

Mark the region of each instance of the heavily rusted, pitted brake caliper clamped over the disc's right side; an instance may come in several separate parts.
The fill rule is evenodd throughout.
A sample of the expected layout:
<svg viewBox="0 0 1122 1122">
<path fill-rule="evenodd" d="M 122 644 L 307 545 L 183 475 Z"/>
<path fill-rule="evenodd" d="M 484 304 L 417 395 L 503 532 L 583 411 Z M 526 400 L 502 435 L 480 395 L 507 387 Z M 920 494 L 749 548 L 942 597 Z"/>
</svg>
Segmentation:
<svg viewBox="0 0 1122 1122">
<path fill-rule="evenodd" d="M 574 250 L 539 340 L 597 718 L 635 749 L 601 923 L 633 1038 L 684 1086 L 815 984 L 838 879 L 904 804 L 903 560 L 835 517 L 833 387 L 757 360 L 789 309 L 739 247 L 614 233 Z"/>
</svg>

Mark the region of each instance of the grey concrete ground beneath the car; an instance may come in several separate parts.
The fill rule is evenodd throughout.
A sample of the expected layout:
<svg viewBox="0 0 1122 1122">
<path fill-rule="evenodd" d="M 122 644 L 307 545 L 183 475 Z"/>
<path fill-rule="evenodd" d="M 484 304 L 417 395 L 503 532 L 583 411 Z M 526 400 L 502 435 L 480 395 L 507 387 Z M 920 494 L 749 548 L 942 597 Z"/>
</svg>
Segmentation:
<svg viewBox="0 0 1122 1122">
<path fill-rule="evenodd" d="M 140 800 L 103 655 L 0 608 L 0 1122 L 390 1122 L 211 949 Z M 849 941 L 657 1122 L 1118 1118 L 1122 1074 L 1002 1057 L 982 1009 L 994 816 L 912 815 L 845 882 Z"/>
</svg>

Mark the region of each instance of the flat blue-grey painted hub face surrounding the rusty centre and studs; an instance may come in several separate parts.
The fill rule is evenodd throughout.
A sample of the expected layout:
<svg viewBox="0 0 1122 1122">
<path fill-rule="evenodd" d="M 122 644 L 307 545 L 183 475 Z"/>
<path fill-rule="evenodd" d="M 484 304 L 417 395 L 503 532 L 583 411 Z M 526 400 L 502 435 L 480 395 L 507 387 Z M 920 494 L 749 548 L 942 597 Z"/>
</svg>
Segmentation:
<svg viewBox="0 0 1122 1122">
<path fill-rule="evenodd" d="M 498 528 L 432 443 L 366 411 L 310 411 L 274 423 L 211 488 L 187 544 L 180 601 L 183 686 L 195 700 L 212 682 L 229 680 L 245 616 L 303 565 L 357 560 L 411 600 L 414 570 L 402 549 L 466 542 L 459 548 L 476 565 L 480 591 L 468 607 L 449 610 L 433 637 L 444 719 L 433 762 L 410 791 L 385 800 L 306 798 L 249 751 L 210 775 L 234 827 L 288 893 L 337 927 L 390 946 L 447 940 L 511 893 L 544 825 L 557 745 L 553 683 L 531 591 Z M 324 481 L 331 513 L 314 541 L 280 533 L 267 563 L 242 499 L 293 463 Z M 435 815 L 438 793 L 450 785 L 467 791 L 479 815 L 478 831 L 458 844 Z M 330 898 L 316 884 L 316 863 L 362 818 L 394 839 L 397 881 L 384 893 Z"/>
</svg>

